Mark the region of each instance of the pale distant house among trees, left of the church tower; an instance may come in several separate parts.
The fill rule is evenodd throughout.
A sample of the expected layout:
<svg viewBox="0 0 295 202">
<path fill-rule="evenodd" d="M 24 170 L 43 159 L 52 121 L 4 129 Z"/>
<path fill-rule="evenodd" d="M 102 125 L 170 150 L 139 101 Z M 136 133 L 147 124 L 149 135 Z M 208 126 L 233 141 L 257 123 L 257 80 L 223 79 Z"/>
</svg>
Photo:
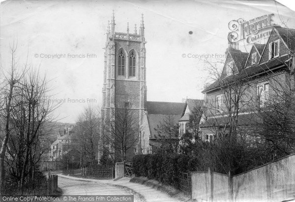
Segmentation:
<svg viewBox="0 0 295 202">
<path fill-rule="evenodd" d="M 49 160 L 60 160 L 62 155 L 68 153 L 73 133 L 73 126 L 58 132 L 57 139 L 50 145 L 51 155 Z"/>
</svg>

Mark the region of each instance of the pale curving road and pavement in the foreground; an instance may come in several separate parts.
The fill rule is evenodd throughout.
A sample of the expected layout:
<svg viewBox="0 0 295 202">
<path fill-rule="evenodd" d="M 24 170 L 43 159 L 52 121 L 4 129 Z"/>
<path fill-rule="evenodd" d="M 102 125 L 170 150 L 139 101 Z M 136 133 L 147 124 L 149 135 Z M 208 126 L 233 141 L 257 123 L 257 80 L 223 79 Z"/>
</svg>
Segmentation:
<svg viewBox="0 0 295 202">
<path fill-rule="evenodd" d="M 62 189 L 63 195 L 134 195 L 134 202 L 179 202 L 166 193 L 129 182 L 130 177 L 114 181 L 113 179 L 86 179 L 61 173 L 55 174 L 59 176 L 59 188 Z"/>
</svg>

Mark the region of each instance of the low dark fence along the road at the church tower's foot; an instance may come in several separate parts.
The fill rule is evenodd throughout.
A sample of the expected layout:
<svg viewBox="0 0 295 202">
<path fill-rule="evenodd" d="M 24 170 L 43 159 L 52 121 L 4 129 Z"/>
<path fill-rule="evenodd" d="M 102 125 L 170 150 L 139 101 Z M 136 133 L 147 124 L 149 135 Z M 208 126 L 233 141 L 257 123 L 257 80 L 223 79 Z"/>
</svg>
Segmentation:
<svg viewBox="0 0 295 202">
<path fill-rule="evenodd" d="M 75 177 L 97 177 L 97 178 L 114 178 L 114 168 L 80 168 L 80 169 L 63 169 L 63 174 Z"/>
</svg>

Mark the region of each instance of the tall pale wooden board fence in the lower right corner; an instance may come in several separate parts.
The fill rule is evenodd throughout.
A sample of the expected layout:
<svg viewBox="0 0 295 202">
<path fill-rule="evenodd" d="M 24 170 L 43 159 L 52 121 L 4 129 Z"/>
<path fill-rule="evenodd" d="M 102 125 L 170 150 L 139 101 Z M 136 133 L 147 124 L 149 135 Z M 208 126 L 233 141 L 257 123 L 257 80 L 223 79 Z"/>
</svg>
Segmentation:
<svg viewBox="0 0 295 202">
<path fill-rule="evenodd" d="M 295 154 L 247 172 L 230 176 L 191 172 L 192 198 L 197 201 L 295 200 Z"/>
</svg>

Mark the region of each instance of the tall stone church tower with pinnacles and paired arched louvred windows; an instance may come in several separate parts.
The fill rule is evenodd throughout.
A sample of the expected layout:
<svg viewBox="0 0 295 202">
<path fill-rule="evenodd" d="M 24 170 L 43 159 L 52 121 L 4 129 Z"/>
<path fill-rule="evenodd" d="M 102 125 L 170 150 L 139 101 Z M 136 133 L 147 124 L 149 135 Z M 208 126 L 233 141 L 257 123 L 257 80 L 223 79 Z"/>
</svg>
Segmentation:
<svg viewBox="0 0 295 202">
<path fill-rule="evenodd" d="M 127 107 L 134 110 L 139 127 L 143 120 L 145 102 L 147 101 L 146 41 L 143 14 L 139 33 L 136 24 L 133 33 L 129 32 L 129 23 L 127 23 L 126 33 L 116 32 L 115 28 L 113 11 L 112 20 L 111 23 L 108 23 L 106 33 L 102 119 L 104 122 L 115 122 L 116 110 Z M 100 141 L 104 141 L 103 137 Z M 133 148 L 132 150 L 135 153 L 136 149 Z M 101 147 L 99 151 L 98 159 L 102 155 Z"/>
</svg>

